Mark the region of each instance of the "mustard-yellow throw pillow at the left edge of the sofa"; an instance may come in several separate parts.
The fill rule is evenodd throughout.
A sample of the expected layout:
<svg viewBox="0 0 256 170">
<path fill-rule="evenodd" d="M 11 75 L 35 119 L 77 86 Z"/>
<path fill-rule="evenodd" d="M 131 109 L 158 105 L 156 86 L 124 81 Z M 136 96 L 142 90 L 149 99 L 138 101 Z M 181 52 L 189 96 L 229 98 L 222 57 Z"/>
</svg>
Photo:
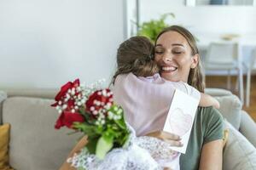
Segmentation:
<svg viewBox="0 0 256 170">
<path fill-rule="evenodd" d="M 9 123 L 0 126 L 0 169 L 11 170 L 9 167 Z"/>
</svg>

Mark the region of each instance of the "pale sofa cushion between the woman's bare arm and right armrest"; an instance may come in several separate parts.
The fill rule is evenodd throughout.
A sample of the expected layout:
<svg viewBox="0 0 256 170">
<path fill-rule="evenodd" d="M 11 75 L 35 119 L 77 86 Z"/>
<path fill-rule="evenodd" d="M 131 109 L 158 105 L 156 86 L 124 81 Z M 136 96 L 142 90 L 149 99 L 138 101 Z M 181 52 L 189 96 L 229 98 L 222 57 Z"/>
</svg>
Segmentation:
<svg viewBox="0 0 256 170">
<path fill-rule="evenodd" d="M 253 170 L 256 169 L 256 149 L 235 127 L 225 122 L 230 129 L 229 139 L 224 148 L 223 169 Z"/>
</svg>

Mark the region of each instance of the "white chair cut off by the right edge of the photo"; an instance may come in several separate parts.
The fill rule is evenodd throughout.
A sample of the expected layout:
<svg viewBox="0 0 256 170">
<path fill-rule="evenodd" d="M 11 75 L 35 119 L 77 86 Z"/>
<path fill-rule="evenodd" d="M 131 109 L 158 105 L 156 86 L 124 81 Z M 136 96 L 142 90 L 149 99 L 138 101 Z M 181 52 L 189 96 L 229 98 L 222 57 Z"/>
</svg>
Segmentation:
<svg viewBox="0 0 256 170">
<path fill-rule="evenodd" d="M 248 63 L 243 63 L 243 65 L 246 68 L 247 71 L 247 91 L 246 91 L 246 106 L 248 107 L 250 105 L 250 92 L 251 92 L 251 71 L 253 68 L 253 65 L 256 61 L 256 48 L 254 48 L 249 62 Z"/>
</svg>

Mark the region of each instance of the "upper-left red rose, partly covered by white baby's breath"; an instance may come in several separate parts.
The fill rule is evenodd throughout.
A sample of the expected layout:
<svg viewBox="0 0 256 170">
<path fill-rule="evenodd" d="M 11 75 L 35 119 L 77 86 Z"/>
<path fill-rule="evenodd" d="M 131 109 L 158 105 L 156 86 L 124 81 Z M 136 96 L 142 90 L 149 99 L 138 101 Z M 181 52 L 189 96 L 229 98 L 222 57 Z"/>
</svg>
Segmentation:
<svg viewBox="0 0 256 170">
<path fill-rule="evenodd" d="M 80 81 L 76 79 L 74 82 L 67 82 L 64 86 L 61 87 L 61 91 L 55 96 L 55 103 L 51 106 L 55 107 L 58 105 L 58 101 L 60 101 L 66 94 L 68 89 L 79 87 Z"/>
</svg>

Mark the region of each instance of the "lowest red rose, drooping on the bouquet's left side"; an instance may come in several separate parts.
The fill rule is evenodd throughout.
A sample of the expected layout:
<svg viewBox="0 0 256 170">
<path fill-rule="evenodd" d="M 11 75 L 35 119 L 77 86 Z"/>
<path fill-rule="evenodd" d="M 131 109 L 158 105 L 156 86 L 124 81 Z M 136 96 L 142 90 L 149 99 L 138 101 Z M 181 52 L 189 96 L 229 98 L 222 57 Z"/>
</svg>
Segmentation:
<svg viewBox="0 0 256 170">
<path fill-rule="evenodd" d="M 72 128 L 73 122 L 84 122 L 84 116 L 79 113 L 62 112 L 61 116 L 55 122 L 55 128 L 60 129 L 64 126 Z"/>
</svg>

